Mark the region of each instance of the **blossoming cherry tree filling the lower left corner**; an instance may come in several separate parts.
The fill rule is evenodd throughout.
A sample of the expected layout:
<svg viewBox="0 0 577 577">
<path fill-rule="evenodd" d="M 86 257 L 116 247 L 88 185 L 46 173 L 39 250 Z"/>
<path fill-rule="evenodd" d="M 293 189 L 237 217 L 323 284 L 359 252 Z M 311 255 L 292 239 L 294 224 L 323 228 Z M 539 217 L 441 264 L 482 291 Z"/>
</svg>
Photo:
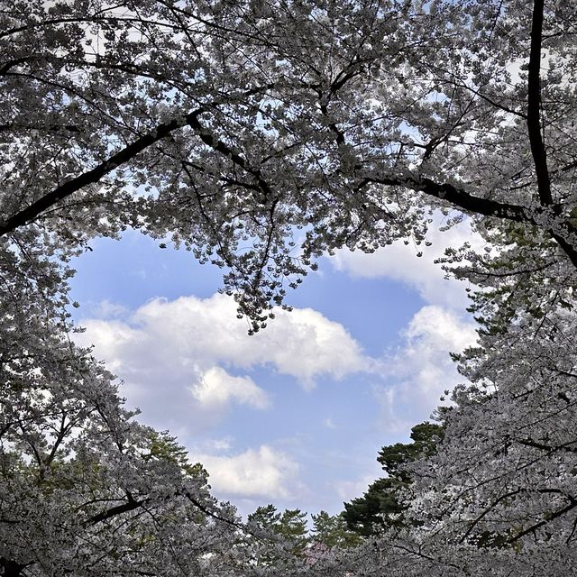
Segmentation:
<svg viewBox="0 0 577 577">
<path fill-rule="evenodd" d="M 11 296 L 0 328 L 1 574 L 232 574 L 247 534 L 206 472 L 131 419 L 112 376 L 46 323 L 38 301 L 14 307 Z"/>
</svg>

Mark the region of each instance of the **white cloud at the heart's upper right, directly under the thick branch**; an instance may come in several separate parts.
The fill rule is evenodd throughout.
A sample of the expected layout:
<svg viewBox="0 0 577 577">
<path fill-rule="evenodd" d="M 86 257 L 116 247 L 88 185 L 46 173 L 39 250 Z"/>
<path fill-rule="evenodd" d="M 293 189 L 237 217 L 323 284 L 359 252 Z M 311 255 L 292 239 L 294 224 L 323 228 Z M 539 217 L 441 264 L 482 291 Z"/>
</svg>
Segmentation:
<svg viewBox="0 0 577 577">
<path fill-rule="evenodd" d="M 428 242 L 415 246 L 402 241 L 381 248 L 373 253 L 351 252 L 348 249 L 337 251 L 331 259 L 337 270 L 343 270 L 353 277 L 366 279 L 389 278 L 408 284 L 417 289 L 421 298 L 429 304 L 463 309 L 468 304 L 463 281 L 445 279 L 441 265 L 435 259 L 444 256 L 446 248 L 458 248 L 463 243 L 470 243 L 475 250 L 482 250 L 484 242 L 478 234 L 472 233 L 468 222 L 454 225 L 442 232 L 439 217 L 431 225 L 427 234 Z M 422 252 L 417 257 L 417 252 Z"/>
</svg>

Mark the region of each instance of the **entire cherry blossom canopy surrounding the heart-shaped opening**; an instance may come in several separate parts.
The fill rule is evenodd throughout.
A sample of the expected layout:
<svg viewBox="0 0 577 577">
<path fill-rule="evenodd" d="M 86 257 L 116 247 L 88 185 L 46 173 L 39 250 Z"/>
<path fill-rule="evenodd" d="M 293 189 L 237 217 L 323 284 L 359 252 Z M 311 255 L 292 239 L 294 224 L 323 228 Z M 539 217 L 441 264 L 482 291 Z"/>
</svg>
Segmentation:
<svg viewBox="0 0 577 577">
<path fill-rule="evenodd" d="M 3 572 L 274 572 L 71 343 L 92 239 L 133 227 L 222 266 L 256 331 L 321 254 L 426 243 L 456 209 L 487 243 L 446 255 L 480 288 L 479 343 L 443 443 L 403 465 L 410 522 L 295 571 L 567 574 L 576 25 L 569 0 L 4 3 Z"/>
</svg>

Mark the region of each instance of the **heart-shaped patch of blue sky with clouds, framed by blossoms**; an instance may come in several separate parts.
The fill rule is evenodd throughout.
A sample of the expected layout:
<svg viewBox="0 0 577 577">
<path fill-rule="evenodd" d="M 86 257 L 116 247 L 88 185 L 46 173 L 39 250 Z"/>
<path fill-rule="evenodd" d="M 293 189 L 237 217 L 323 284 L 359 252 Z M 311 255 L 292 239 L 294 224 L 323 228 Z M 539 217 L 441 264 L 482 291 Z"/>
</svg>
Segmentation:
<svg viewBox="0 0 577 577">
<path fill-rule="evenodd" d="M 381 476 L 380 447 L 408 441 L 463 382 L 449 352 L 475 341 L 466 285 L 434 260 L 481 243 L 466 222 L 428 240 L 321 259 L 292 312 L 249 336 L 221 270 L 136 232 L 97 239 L 73 264 L 77 340 L 243 516 L 268 503 L 335 514 Z"/>
</svg>

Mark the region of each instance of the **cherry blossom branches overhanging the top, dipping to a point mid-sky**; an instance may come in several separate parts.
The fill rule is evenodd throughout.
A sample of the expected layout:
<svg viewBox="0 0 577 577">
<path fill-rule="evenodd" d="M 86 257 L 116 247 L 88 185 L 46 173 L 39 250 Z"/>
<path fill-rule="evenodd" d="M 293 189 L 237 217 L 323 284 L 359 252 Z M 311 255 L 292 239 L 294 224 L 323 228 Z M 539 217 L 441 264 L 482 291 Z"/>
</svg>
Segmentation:
<svg viewBox="0 0 577 577">
<path fill-rule="evenodd" d="M 227 267 L 254 328 L 316 255 L 419 243 L 430 206 L 534 226 L 575 263 L 572 5 L 533 12 L 15 3 L 0 235 L 169 235 Z"/>
</svg>

